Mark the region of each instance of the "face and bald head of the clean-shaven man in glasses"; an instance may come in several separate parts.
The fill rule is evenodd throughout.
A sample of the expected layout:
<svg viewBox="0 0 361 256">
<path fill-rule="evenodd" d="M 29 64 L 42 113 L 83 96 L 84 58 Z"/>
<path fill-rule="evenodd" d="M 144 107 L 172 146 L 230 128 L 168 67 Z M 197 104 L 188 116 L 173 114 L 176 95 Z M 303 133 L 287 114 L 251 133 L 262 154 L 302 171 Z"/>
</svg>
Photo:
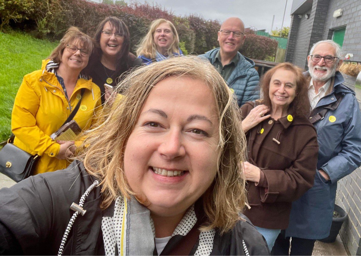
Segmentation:
<svg viewBox="0 0 361 256">
<path fill-rule="evenodd" d="M 243 22 L 238 18 L 229 18 L 223 22 L 220 30 L 239 31 L 244 33 Z M 222 35 L 222 32 L 218 31 L 218 43 L 221 47 L 221 53 L 235 56 L 238 50 L 242 47 L 245 36 L 242 35 L 240 38 L 234 37 L 233 33 L 228 36 Z"/>
</svg>

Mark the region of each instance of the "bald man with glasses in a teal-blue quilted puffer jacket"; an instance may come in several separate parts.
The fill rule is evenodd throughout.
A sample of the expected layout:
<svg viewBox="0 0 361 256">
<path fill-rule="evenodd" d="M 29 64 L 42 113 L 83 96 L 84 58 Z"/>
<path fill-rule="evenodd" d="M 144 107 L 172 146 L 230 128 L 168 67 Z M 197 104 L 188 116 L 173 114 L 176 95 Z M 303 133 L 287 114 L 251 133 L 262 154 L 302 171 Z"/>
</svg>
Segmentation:
<svg viewBox="0 0 361 256">
<path fill-rule="evenodd" d="M 237 96 L 239 107 L 260 97 L 260 77 L 255 69 L 255 62 L 238 52 L 244 39 L 243 21 L 235 17 L 228 18 L 218 31 L 219 48 L 199 55 L 217 68 Z"/>
</svg>

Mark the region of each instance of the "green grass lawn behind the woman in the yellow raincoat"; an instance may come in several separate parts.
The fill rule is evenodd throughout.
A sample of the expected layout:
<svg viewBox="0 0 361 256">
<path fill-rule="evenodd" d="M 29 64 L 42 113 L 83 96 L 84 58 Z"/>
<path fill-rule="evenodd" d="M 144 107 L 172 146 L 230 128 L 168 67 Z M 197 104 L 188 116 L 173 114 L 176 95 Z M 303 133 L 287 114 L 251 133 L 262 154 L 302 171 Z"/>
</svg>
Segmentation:
<svg viewBox="0 0 361 256">
<path fill-rule="evenodd" d="M 23 76 L 40 69 L 57 44 L 22 32 L 0 32 L 0 142 L 11 134 L 11 110 Z"/>
</svg>

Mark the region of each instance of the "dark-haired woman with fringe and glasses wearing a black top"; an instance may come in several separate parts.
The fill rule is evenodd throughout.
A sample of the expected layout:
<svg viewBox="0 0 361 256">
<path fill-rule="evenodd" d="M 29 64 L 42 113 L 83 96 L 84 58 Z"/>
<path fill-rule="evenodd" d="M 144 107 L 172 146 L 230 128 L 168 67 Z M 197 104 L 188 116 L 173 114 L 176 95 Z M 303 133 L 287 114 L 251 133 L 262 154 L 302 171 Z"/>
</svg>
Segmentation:
<svg viewBox="0 0 361 256">
<path fill-rule="evenodd" d="M 100 22 L 93 38 L 94 53 L 84 71 L 93 78 L 93 83 L 99 86 L 101 102 L 104 103 L 111 93 L 104 84 L 116 86 L 123 79 L 122 74 L 140 66 L 142 61 L 129 52 L 128 27 L 117 17 L 107 17 Z"/>
</svg>

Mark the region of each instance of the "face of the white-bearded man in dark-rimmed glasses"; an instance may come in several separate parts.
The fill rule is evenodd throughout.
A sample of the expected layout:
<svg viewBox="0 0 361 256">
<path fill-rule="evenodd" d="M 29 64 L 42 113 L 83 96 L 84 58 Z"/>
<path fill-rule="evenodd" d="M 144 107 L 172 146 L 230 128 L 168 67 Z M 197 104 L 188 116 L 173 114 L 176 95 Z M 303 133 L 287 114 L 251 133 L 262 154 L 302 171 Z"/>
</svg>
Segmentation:
<svg viewBox="0 0 361 256">
<path fill-rule="evenodd" d="M 336 57 L 335 48 L 329 43 L 321 43 L 313 50 L 312 55 L 333 56 Z M 308 69 L 314 81 L 328 81 L 339 70 L 342 61 L 335 59 L 332 63 L 326 63 L 323 58 L 314 62 L 311 56 L 307 57 Z"/>
</svg>

